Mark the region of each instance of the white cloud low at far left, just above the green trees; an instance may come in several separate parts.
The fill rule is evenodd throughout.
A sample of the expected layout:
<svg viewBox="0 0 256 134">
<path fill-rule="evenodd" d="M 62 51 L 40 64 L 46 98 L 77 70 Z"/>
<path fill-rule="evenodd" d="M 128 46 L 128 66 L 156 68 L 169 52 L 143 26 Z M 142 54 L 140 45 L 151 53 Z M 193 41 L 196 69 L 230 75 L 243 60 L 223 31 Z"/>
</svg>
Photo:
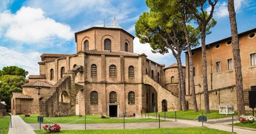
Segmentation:
<svg viewBox="0 0 256 134">
<path fill-rule="evenodd" d="M 6 47 L 0 46 L 0 69 L 6 66 L 18 66 L 29 72 L 38 75 L 41 61 L 39 52 L 20 53 Z"/>
</svg>

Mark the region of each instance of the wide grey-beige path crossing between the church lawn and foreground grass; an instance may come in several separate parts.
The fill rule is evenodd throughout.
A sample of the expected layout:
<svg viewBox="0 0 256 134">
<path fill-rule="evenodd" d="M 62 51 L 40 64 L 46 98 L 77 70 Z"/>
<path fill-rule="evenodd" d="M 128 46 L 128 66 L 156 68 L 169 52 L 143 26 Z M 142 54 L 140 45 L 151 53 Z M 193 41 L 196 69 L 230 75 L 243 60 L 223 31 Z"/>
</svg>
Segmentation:
<svg viewBox="0 0 256 134">
<path fill-rule="evenodd" d="M 39 129 L 38 123 L 29 124 L 35 130 Z M 45 124 L 41 124 L 43 128 Z M 59 124 L 61 129 L 75 129 L 84 130 L 85 124 L 82 123 L 71 123 L 71 124 Z M 172 128 L 172 127 L 197 127 L 193 124 L 185 124 L 174 121 L 160 122 L 160 128 Z M 138 129 L 138 128 L 159 128 L 159 122 L 133 122 L 125 123 L 125 129 Z M 123 123 L 88 123 L 86 129 L 124 129 Z"/>
</svg>

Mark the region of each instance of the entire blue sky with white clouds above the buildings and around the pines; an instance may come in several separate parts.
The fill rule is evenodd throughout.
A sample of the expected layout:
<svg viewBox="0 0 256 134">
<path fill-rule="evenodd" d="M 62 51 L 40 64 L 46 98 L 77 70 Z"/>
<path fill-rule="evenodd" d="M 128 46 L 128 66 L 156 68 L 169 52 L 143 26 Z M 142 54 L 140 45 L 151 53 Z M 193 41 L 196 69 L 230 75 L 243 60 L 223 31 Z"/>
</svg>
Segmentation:
<svg viewBox="0 0 256 134">
<path fill-rule="evenodd" d="M 256 27 L 254 0 L 235 0 L 238 32 Z M 0 1 L 0 68 L 19 66 L 29 74 L 39 74 L 37 62 L 43 53 L 74 54 L 74 32 L 93 26 L 117 23 L 135 36 L 134 24 L 139 15 L 149 11 L 144 0 L 1 0 Z M 230 35 L 227 0 L 219 0 L 214 12 L 217 25 L 206 37 L 211 43 Z M 169 66 L 176 62 L 171 53 L 151 53 L 149 44 L 134 39 L 134 53 Z M 185 64 L 185 55 L 182 54 Z"/>
</svg>

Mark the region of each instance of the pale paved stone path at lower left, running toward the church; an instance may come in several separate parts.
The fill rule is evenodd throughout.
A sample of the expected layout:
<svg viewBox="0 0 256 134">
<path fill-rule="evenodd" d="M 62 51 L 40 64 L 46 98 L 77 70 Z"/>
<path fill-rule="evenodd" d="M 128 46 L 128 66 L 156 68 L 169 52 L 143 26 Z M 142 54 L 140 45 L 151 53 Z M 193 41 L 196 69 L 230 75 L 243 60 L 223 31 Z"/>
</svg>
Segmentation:
<svg viewBox="0 0 256 134">
<path fill-rule="evenodd" d="M 11 125 L 10 125 L 11 126 Z M 8 134 L 35 134 L 34 129 L 25 123 L 20 116 L 12 115 L 12 127 Z"/>
</svg>

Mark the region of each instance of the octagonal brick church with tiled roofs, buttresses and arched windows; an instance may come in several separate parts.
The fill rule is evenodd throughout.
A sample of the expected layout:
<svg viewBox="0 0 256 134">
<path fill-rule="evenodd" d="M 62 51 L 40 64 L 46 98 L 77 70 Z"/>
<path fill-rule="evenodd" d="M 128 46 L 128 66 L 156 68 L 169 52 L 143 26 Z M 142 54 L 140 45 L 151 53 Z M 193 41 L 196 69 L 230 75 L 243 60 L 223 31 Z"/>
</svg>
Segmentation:
<svg viewBox="0 0 256 134">
<path fill-rule="evenodd" d="M 12 114 L 118 117 L 177 110 L 177 64 L 165 68 L 134 54 L 134 38 L 115 20 L 75 33 L 77 53 L 42 54 L 40 75 L 30 75 L 23 92 L 12 94 Z"/>
</svg>

